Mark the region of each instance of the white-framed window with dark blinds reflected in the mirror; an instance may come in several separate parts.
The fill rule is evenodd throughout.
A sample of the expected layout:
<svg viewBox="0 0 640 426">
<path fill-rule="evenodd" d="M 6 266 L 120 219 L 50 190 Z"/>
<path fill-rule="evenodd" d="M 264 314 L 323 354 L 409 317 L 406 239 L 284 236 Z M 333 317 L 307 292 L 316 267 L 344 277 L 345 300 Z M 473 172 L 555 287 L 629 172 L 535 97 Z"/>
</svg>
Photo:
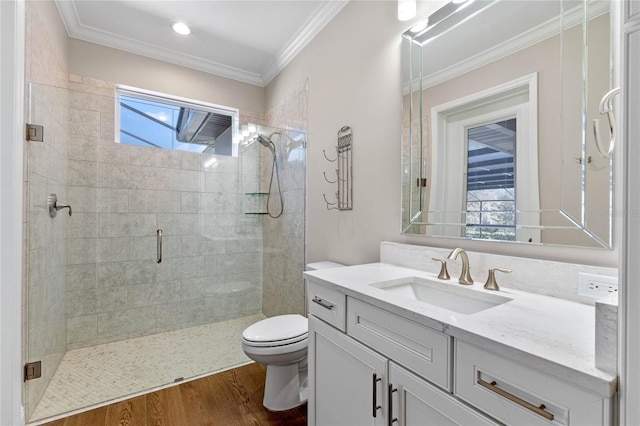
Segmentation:
<svg viewBox="0 0 640 426">
<path fill-rule="evenodd" d="M 432 107 L 434 235 L 540 241 L 537 99 L 534 73 Z"/>
</svg>

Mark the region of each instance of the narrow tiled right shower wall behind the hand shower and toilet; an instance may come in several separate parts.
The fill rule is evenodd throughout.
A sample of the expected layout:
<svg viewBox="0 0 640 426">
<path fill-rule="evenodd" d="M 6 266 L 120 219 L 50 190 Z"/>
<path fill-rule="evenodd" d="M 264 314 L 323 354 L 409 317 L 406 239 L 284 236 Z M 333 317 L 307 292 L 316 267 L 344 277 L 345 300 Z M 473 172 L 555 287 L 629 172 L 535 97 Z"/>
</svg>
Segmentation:
<svg viewBox="0 0 640 426">
<path fill-rule="evenodd" d="M 307 105 L 305 83 L 282 103 L 267 111 L 266 121 L 273 127 L 306 133 Z M 279 142 L 281 143 L 276 148 L 284 213 L 277 219 L 263 217 L 262 311 L 267 316 L 303 314 L 305 304 L 302 271 L 305 265 L 306 146 L 302 148 L 302 152 L 289 156 L 283 146 L 285 139 L 279 138 Z"/>
</svg>

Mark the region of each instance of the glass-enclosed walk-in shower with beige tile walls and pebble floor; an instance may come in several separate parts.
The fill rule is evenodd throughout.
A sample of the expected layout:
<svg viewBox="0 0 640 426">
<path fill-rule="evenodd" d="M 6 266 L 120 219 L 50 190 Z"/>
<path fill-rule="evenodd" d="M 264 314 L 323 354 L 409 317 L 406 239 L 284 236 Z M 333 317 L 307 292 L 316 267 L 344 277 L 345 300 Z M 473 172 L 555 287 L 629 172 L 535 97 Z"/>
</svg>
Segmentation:
<svg viewBox="0 0 640 426">
<path fill-rule="evenodd" d="M 29 85 L 30 422 L 246 363 L 246 326 L 304 307 L 304 133 L 243 123 L 237 156 L 116 143 L 115 86 L 74 78 Z"/>
</svg>

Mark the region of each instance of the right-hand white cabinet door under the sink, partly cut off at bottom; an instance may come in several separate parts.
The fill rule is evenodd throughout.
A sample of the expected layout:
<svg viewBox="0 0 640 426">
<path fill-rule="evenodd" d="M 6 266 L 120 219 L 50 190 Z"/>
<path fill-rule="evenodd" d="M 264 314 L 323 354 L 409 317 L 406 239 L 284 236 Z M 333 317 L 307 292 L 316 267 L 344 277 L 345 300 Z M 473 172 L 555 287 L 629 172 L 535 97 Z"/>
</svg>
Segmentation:
<svg viewBox="0 0 640 426">
<path fill-rule="evenodd" d="M 389 415 L 402 426 L 497 425 L 426 380 L 389 363 Z"/>
</svg>

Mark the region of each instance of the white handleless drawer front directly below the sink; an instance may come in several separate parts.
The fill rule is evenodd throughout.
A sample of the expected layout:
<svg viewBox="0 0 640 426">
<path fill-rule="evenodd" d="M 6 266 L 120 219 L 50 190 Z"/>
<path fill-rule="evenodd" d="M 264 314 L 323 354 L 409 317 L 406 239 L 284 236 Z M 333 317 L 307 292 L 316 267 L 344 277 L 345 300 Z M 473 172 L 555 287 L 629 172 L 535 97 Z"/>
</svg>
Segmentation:
<svg viewBox="0 0 640 426">
<path fill-rule="evenodd" d="M 419 376 L 451 391 L 451 337 L 347 298 L 347 334 Z"/>
</svg>

